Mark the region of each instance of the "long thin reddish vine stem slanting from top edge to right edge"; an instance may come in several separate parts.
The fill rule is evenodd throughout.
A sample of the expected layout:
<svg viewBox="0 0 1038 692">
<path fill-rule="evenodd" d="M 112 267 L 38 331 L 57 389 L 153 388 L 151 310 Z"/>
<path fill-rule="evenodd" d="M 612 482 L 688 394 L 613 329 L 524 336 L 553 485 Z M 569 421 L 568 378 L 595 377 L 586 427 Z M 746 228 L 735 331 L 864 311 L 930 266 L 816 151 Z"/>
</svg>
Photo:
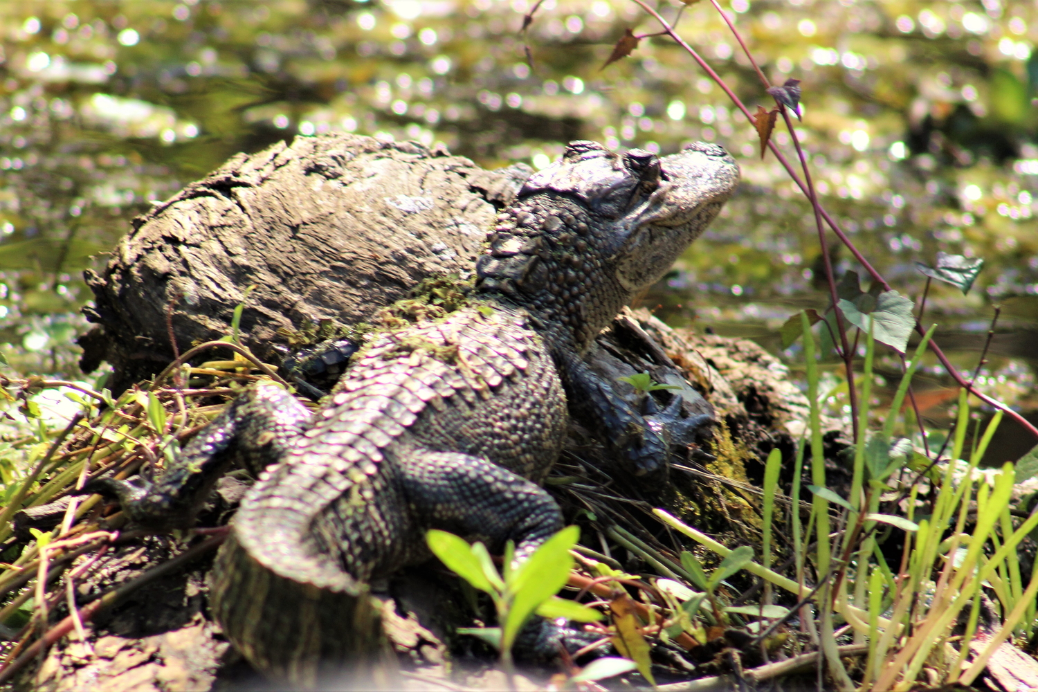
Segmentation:
<svg viewBox="0 0 1038 692">
<path fill-rule="evenodd" d="M 645 0 L 631 0 L 631 2 L 641 7 L 641 9 L 646 10 L 647 13 L 651 15 L 657 22 L 659 22 L 660 25 L 663 27 L 663 30 L 666 32 L 666 35 L 668 35 L 672 39 L 674 39 L 676 44 L 681 46 L 681 48 L 683 48 L 686 53 L 692 56 L 692 59 L 695 60 L 695 62 L 700 65 L 703 72 L 705 72 L 710 77 L 710 79 L 712 79 L 714 83 L 716 83 L 717 86 L 721 88 L 721 90 L 732 101 L 732 103 L 735 104 L 735 106 L 740 111 L 742 111 L 742 114 L 746 116 L 746 119 L 750 123 L 754 122 L 753 114 L 742 103 L 739 96 L 735 95 L 735 92 L 733 92 L 732 89 L 729 88 L 728 84 L 725 83 L 725 80 L 722 80 L 720 76 L 716 72 L 714 72 L 713 68 L 707 63 L 707 61 L 704 60 L 702 56 L 700 56 L 700 54 L 695 52 L 695 49 L 689 46 L 684 38 L 679 36 L 677 32 L 675 32 L 674 28 L 667 23 L 665 19 L 663 19 L 660 16 L 659 12 L 657 12 L 654 8 L 646 4 Z M 726 21 L 727 19 L 728 18 L 726 17 Z M 739 36 L 737 32 L 736 32 L 736 38 L 739 40 L 740 44 L 742 44 L 742 38 Z M 793 169 L 793 166 L 789 163 L 789 160 L 783 155 L 781 150 L 778 150 L 778 147 L 774 145 L 774 142 L 771 142 L 769 140 L 768 148 L 774 155 L 778 163 L 781 163 L 783 167 L 786 169 L 786 172 L 789 173 L 790 177 L 793 179 L 793 183 L 795 183 L 796 186 L 800 188 L 800 191 L 804 194 L 804 196 L 808 197 L 808 199 L 811 199 L 812 195 L 810 189 L 808 188 L 807 185 L 804 185 L 803 181 L 800 179 L 800 176 L 796 174 L 796 171 Z M 876 268 L 873 267 L 872 264 L 865 258 L 865 256 L 854 246 L 851 240 L 847 238 L 847 234 L 840 227 L 840 224 L 838 224 L 836 220 L 829 215 L 829 213 L 825 211 L 825 209 L 821 205 L 821 203 L 816 203 L 815 207 L 817 212 L 821 214 L 822 218 L 825 220 L 825 223 L 829 226 L 829 228 L 832 229 L 832 232 L 835 232 L 837 234 L 837 238 L 840 239 L 840 242 L 843 243 L 848 250 L 850 250 L 850 253 L 854 256 L 854 259 L 856 259 L 858 264 L 862 265 L 862 268 L 865 269 L 865 271 L 868 272 L 869 275 L 876 282 L 878 282 L 883 287 L 884 290 L 892 290 L 891 284 L 886 282 L 886 279 L 884 279 L 882 275 L 876 271 Z M 917 333 L 920 334 L 920 336 L 926 334 L 926 331 L 923 329 L 923 326 L 922 324 L 919 323 L 919 321 L 916 322 L 916 331 Z M 1031 421 L 1029 421 L 1027 418 L 1021 416 L 1016 411 L 1013 411 L 1011 408 L 1009 408 L 1002 402 L 979 391 L 976 387 L 974 387 L 972 383 L 967 382 L 965 378 L 963 378 L 959 373 L 959 371 L 955 368 L 955 366 L 952 365 L 952 363 L 948 360 L 948 356 L 945 355 L 944 351 L 940 350 L 940 347 L 938 347 L 937 343 L 932 338 L 930 339 L 928 345 L 930 350 L 933 351 L 933 355 L 935 355 L 937 357 L 937 360 L 940 361 L 940 364 L 944 366 L 944 368 L 948 371 L 950 376 L 952 376 L 952 379 L 955 380 L 955 382 L 960 387 L 964 388 L 967 392 L 969 392 L 977 398 L 981 399 L 982 402 L 990 406 L 993 406 L 996 409 L 1005 411 L 1006 415 L 1015 420 L 1017 424 L 1023 427 L 1023 430 L 1030 433 L 1035 439 L 1038 439 L 1038 427 L 1035 427 L 1031 423 Z"/>
</svg>

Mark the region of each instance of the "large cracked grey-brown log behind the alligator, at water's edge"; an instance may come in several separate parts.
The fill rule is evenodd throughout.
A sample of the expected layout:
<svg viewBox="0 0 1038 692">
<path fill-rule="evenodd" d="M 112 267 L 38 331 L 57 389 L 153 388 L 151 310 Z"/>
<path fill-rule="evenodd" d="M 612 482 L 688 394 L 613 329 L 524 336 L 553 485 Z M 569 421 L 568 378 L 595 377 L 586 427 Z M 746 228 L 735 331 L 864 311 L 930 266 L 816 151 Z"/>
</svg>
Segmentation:
<svg viewBox="0 0 1038 692">
<path fill-rule="evenodd" d="M 101 275 L 80 343 L 83 369 L 114 366 L 113 391 L 176 348 L 228 333 L 245 290 L 243 341 L 260 354 L 280 328 L 363 322 L 421 279 L 472 271 L 496 211 L 530 173 L 485 171 L 412 142 L 299 137 L 238 155 L 134 220 Z"/>
</svg>

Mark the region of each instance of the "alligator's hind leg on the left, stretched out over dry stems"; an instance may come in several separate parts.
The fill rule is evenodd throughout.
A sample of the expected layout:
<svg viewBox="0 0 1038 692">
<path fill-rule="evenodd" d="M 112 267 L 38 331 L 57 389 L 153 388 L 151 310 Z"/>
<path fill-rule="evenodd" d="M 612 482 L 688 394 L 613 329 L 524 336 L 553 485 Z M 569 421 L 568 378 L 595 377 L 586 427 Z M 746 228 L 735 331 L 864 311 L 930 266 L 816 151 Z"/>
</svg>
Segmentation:
<svg viewBox="0 0 1038 692">
<path fill-rule="evenodd" d="M 153 482 L 98 478 L 82 493 L 119 501 L 137 524 L 155 530 L 194 523 L 219 477 L 237 460 L 253 475 L 280 461 L 313 414 L 279 385 L 262 381 L 241 394 L 184 447 Z"/>
</svg>

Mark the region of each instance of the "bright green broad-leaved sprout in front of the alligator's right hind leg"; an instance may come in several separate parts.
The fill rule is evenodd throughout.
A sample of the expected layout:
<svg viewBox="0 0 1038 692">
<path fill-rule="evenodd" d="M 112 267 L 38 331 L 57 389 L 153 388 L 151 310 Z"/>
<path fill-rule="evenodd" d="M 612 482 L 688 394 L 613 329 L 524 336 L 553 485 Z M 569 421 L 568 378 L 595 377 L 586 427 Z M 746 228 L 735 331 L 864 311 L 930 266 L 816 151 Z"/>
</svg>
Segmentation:
<svg viewBox="0 0 1038 692">
<path fill-rule="evenodd" d="M 501 667 L 509 674 L 514 666 L 512 645 L 527 618 L 534 613 L 548 618 L 565 617 L 578 622 L 602 619 L 599 611 L 555 596 L 569 580 L 573 570 L 570 550 L 580 537 L 580 529 L 568 526 L 551 536 L 534 553 L 516 563 L 515 547 L 510 541 L 504 551 L 503 575 L 482 543 L 469 545 L 446 531 L 430 530 L 426 535 L 436 557 L 473 588 L 490 594 L 497 612 L 497 628 L 459 630 L 481 637 L 501 655 Z M 619 674 L 619 673 L 616 673 Z"/>
</svg>

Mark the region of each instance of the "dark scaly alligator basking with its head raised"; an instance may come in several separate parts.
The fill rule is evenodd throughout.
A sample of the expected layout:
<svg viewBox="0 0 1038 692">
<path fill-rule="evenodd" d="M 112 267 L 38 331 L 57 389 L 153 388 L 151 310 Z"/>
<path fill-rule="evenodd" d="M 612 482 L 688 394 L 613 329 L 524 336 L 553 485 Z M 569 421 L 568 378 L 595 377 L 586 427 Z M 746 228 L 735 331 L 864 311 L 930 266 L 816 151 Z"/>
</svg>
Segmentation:
<svg viewBox="0 0 1038 692">
<path fill-rule="evenodd" d="M 738 183 L 716 145 L 666 157 L 588 141 L 532 174 L 488 233 L 470 300 L 367 336 L 317 412 L 272 381 L 233 400 L 154 481 L 100 479 L 135 523 L 187 527 L 235 460 L 256 481 L 211 577 L 225 636 L 258 670 L 312 685 L 387 651 L 372 580 L 428 559 L 438 528 L 523 560 L 563 526 L 541 488 L 567 402 L 634 474 L 708 416 L 636 411 L 581 360 L 659 280 Z"/>
</svg>

